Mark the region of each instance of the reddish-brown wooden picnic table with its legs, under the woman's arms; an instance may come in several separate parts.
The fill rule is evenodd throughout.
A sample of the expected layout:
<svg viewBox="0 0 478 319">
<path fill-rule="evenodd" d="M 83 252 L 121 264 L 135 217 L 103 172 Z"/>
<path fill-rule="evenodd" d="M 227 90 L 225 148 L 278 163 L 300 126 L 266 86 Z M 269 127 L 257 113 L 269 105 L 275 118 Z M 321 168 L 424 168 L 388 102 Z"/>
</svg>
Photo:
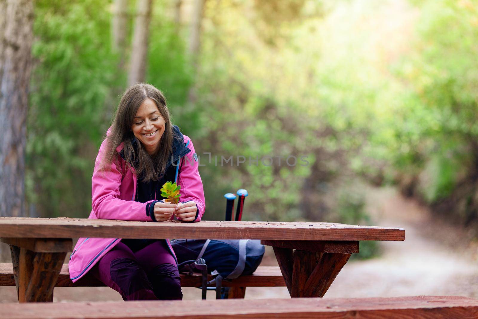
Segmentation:
<svg viewBox="0 0 478 319">
<path fill-rule="evenodd" d="M 20 302 L 53 301 L 72 238 L 259 239 L 273 247 L 291 297 L 323 297 L 359 241 L 403 241 L 401 228 L 329 222 L 200 221 L 161 223 L 73 218 L 0 217 L 11 248 Z"/>
</svg>

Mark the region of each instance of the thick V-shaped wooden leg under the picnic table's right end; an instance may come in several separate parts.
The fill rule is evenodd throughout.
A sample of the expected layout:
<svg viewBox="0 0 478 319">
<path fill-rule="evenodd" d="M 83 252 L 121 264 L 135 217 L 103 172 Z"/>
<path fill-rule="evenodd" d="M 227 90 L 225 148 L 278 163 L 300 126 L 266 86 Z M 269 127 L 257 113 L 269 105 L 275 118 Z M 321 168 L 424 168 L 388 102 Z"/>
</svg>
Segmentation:
<svg viewBox="0 0 478 319">
<path fill-rule="evenodd" d="M 350 255 L 359 252 L 359 242 L 261 243 L 273 247 L 291 297 L 323 297 Z"/>
</svg>

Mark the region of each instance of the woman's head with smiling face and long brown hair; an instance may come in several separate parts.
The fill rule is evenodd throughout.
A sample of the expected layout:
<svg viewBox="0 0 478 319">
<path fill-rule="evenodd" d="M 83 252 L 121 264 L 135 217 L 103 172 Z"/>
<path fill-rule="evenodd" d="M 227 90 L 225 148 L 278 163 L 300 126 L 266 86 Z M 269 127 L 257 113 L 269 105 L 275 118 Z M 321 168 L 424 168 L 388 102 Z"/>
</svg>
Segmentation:
<svg viewBox="0 0 478 319">
<path fill-rule="evenodd" d="M 157 88 L 149 84 L 137 84 L 126 90 L 107 133 L 109 143 L 102 169 L 108 169 L 118 156 L 117 148 L 122 144 L 124 159 L 127 163 L 136 162 L 138 176 L 143 176 L 145 181 L 157 180 L 165 173 L 174 138 L 179 138 L 179 130 L 174 130 L 169 118 L 166 99 Z M 160 129 L 152 136 L 147 136 Z M 137 142 L 140 143 L 135 145 Z"/>
</svg>

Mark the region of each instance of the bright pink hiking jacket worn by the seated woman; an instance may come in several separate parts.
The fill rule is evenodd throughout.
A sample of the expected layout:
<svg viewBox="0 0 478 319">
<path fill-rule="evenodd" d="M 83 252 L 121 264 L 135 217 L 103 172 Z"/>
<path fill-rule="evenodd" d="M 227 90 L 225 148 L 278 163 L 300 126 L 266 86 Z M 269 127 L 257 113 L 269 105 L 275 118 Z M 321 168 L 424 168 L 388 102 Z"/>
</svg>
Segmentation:
<svg viewBox="0 0 478 319">
<path fill-rule="evenodd" d="M 181 186 L 180 200 L 182 202 L 194 200 L 197 206 L 196 220 L 201 220 L 206 208 L 203 184 L 198 172 L 198 161 L 191 139 L 185 135 L 184 144 L 190 151 L 181 158 L 181 166 L 176 169 L 176 182 Z M 127 169 L 126 162 L 118 156 L 118 165 L 111 164 L 106 172 L 99 172 L 102 157 L 106 151 L 107 141 L 101 144 L 95 162 L 92 178 L 92 210 L 88 218 L 109 220 L 139 220 L 152 221 L 146 215 L 146 203 L 134 201 L 136 193 L 136 173 L 134 168 Z M 120 152 L 120 145 L 117 151 Z M 174 163 L 177 163 L 177 157 Z M 80 238 L 70 256 L 68 267 L 73 282 L 85 275 L 106 253 L 109 252 L 121 238 Z M 174 255 L 169 240 L 168 247 Z"/>
</svg>

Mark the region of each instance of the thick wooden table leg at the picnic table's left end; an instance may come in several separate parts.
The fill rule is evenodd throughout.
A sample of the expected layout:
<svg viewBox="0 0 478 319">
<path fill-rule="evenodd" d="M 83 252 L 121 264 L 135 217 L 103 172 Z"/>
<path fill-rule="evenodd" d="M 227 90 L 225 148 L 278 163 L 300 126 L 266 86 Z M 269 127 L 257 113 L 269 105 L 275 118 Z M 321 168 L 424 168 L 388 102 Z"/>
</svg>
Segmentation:
<svg viewBox="0 0 478 319">
<path fill-rule="evenodd" d="M 2 239 L 10 245 L 19 302 L 51 302 L 71 239 Z"/>
</svg>

